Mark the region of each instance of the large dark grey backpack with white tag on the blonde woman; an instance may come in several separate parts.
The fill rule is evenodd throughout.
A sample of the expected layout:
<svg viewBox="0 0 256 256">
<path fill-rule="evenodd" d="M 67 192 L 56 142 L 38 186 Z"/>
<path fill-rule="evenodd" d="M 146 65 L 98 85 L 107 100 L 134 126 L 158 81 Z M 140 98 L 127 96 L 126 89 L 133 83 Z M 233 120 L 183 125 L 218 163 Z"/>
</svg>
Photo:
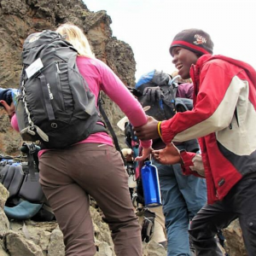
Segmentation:
<svg viewBox="0 0 256 256">
<path fill-rule="evenodd" d="M 76 64 L 77 50 L 50 30 L 29 35 L 22 50 L 20 88 L 15 113 L 25 141 L 43 148 L 65 148 L 106 131 L 93 93 Z"/>
</svg>

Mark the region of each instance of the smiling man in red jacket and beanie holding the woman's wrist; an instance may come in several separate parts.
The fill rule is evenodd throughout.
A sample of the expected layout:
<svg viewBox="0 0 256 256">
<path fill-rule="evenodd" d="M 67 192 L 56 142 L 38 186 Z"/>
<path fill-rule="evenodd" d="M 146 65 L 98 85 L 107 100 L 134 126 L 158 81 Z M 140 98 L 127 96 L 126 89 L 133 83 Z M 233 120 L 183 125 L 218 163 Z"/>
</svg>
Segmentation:
<svg viewBox="0 0 256 256">
<path fill-rule="evenodd" d="M 180 162 L 183 174 L 207 179 L 208 204 L 189 228 L 197 255 L 222 255 L 214 236 L 239 218 L 249 256 L 256 252 L 256 72 L 245 62 L 212 55 L 207 32 L 177 33 L 170 47 L 183 79 L 194 84 L 194 108 L 135 127 L 139 139 L 161 137 L 162 164 Z M 173 142 L 198 138 L 201 155 L 178 151 Z"/>
</svg>

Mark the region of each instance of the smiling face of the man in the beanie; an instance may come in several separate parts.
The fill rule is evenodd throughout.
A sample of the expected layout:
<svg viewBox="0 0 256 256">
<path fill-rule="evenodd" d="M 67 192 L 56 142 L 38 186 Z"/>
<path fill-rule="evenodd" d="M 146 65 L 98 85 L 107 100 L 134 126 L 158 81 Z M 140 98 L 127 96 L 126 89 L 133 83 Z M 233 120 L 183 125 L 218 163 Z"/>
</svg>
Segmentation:
<svg viewBox="0 0 256 256">
<path fill-rule="evenodd" d="M 195 52 L 179 46 L 172 49 L 171 55 L 173 58 L 172 63 L 178 70 L 177 74 L 179 74 L 182 79 L 189 79 L 190 67 L 192 64 L 195 64 L 198 56 L 195 54 Z"/>
</svg>

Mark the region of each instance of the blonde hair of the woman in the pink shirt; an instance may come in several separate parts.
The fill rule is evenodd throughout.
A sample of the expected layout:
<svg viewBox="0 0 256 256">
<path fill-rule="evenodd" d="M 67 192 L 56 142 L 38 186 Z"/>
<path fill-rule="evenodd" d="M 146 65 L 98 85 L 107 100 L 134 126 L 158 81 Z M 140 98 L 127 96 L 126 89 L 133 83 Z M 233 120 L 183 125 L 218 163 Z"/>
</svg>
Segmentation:
<svg viewBox="0 0 256 256">
<path fill-rule="evenodd" d="M 79 28 L 70 23 L 65 23 L 56 29 L 56 32 L 60 33 L 65 37 L 70 44 L 79 52 L 80 56 L 86 56 L 89 58 L 95 58 L 94 53 L 90 49 L 88 39 L 84 35 L 84 32 Z"/>
</svg>

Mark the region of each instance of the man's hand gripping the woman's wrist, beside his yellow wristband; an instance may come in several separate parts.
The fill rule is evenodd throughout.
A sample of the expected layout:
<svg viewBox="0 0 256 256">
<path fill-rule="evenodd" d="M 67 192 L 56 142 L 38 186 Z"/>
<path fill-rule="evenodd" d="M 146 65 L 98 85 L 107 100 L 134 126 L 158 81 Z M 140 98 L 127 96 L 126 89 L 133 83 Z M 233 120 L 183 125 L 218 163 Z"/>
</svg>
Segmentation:
<svg viewBox="0 0 256 256">
<path fill-rule="evenodd" d="M 142 141 L 159 138 L 157 124 L 158 121 L 156 119 L 148 116 L 148 123 L 146 125 L 133 127 L 134 134 Z"/>
</svg>

